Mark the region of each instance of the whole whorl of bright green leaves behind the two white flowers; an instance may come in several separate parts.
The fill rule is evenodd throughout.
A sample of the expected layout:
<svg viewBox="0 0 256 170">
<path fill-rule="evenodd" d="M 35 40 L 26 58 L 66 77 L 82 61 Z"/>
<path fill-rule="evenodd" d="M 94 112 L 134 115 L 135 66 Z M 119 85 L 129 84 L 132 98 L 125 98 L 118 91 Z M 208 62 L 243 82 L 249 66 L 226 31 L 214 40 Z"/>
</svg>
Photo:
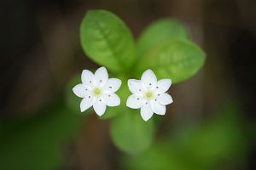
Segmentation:
<svg viewBox="0 0 256 170">
<path fill-rule="evenodd" d="M 155 132 L 153 122 L 143 122 L 139 111 L 125 107 L 130 94 L 128 78 L 138 78 L 147 69 L 152 69 L 159 78 L 171 78 L 174 83 L 195 75 L 204 63 L 205 54 L 188 37 L 177 20 L 158 20 L 143 31 L 135 48 L 131 31 L 118 16 L 106 10 L 90 10 L 85 14 L 80 27 L 84 53 L 123 82 L 118 92 L 121 105 L 108 107 L 102 116 L 113 118 L 111 135 L 119 149 L 131 154 L 142 152 L 152 143 Z"/>
</svg>

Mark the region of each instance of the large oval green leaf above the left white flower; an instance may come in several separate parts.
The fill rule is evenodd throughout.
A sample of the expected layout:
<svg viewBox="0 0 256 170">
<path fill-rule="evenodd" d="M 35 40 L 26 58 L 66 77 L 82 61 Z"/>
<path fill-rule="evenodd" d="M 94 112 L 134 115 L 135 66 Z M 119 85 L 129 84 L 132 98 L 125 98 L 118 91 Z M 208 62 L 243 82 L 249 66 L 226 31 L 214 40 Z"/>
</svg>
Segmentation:
<svg viewBox="0 0 256 170">
<path fill-rule="evenodd" d="M 136 59 L 131 31 L 118 16 L 89 10 L 80 27 L 85 54 L 112 71 L 129 71 Z"/>
</svg>

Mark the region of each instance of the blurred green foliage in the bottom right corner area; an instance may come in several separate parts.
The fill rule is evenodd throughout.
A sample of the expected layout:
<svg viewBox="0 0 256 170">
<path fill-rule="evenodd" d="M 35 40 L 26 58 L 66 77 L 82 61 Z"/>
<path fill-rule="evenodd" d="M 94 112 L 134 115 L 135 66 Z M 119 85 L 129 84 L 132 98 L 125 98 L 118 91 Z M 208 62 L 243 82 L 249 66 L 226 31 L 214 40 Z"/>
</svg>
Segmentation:
<svg viewBox="0 0 256 170">
<path fill-rule="evenodd" d="M 236 107 L 237 108 L 237 107 Z M 125 156 L 123 166 L 132 170 L 227 169 L 222 163 L 239 160 L 247 147 L 241 113 L 228 106 L 206 122 L 183 124 L 169 138 L 156 141 L 138 156 Z"/>
</svg>

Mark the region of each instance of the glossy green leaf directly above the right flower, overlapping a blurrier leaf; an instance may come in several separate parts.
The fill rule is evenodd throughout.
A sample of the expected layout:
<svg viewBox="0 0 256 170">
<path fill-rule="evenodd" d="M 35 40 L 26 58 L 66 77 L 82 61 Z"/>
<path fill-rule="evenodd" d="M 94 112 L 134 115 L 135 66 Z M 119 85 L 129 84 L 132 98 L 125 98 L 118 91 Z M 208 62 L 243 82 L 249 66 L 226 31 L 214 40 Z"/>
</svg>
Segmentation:
<svg viewBox="0 0 256 170">
<path fill-rule="evenodd" d="M 138 63 L 138 73 L 152 69 L 159 78 L 182 82 L 195 75 L 205 61 L 205 54 L 193 42 L 175 39 L 160 44 L 144 55 Z"/>
</svg>

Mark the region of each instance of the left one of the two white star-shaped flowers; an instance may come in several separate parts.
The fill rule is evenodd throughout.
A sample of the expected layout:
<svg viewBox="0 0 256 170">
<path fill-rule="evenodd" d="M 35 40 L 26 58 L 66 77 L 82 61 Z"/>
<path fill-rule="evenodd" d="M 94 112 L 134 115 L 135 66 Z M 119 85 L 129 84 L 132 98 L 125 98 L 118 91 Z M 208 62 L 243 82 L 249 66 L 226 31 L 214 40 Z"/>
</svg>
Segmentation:
<svg viewBox="0 0 256 170">
<path fill-rule="evenodd" d="M 82 72 L 82 83 L 73 88 L 73 93 L 83 98 L 80 103 L 81 112 L 93 106 L 98 116 L 106 111 L 106 105 L 120 105 L 120 99 L 115 92 L 120 88 L 121 81 L 117 78 L 108 79 L 108 71 L 105 67 L 96 70 Z"/>
</svg>

